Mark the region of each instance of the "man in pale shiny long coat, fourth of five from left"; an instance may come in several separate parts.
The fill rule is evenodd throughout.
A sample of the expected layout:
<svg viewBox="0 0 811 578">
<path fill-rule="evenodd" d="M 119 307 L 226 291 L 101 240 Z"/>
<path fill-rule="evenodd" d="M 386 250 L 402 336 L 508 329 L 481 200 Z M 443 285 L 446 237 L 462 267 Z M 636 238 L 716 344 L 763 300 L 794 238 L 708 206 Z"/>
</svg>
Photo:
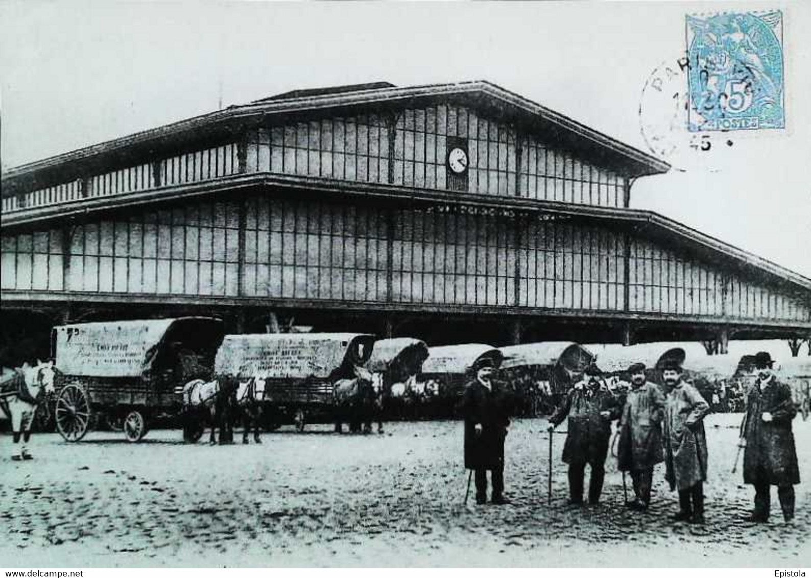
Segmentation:
<svg viewBox="0 0 811 578">
<path fill-rule="evenodd" d="M 675 360 L 663 364 L 665 384 L 664 447 L 665 479 L 679 490 L 680 511 L 676 521 L 704 523 L 704 481 L 707 478 L 707 441 L 704 416 L 710 405 L 692 384 L 681 379 Z"/>
</svg>

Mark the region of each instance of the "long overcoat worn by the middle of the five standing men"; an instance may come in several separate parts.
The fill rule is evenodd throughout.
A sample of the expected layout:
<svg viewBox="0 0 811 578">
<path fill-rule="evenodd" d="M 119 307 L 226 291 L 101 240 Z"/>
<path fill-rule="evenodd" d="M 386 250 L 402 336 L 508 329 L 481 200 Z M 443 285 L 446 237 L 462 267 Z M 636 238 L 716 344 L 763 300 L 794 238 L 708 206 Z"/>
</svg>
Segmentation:
<svg viewBox="0 0 811 578">
<path fill-rule="evenodd" d="M 622 472 L 652 468 L 664 460 L 662 421 L 665 398 L 656 383 L 631 388 L 620 417 L 617 468 Z"/>
</svg>

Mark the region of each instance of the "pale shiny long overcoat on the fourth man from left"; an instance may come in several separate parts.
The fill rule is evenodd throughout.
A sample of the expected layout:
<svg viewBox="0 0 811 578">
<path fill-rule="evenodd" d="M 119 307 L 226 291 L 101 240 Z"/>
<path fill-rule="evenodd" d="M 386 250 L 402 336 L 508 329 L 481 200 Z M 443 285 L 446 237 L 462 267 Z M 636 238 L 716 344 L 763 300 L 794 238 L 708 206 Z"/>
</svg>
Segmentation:
<svg viewBox="0 0 811 578">
<path fill-rule="evenodd" d="M 681 381 L 665 396 L 665 479 L 671 490 L 687 490 L 707 478 L 704 416 L 710 405 L 690 383 Z"/>
</svg>

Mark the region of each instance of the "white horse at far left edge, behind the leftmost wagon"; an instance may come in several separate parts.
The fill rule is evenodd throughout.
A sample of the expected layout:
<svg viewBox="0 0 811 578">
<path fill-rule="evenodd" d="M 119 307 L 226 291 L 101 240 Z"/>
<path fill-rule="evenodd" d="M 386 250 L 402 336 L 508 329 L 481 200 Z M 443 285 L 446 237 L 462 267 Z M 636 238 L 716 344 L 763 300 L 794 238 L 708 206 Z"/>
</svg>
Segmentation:
<svg viewBox="0 0 811 578">
<path fill-rule="evenodd" d="M 23 440 L 19 452 L 12 454 L 12 460 L 33 459 L 27 447 L 31 439 L 31 426 L 36 408 L 42 402 L 44 394 L 54 392 L 55 374 L 53 362 L 43 363 L 39 360 L 36 366 L 25 362 L 22 367 L 15 370 L 2 368 L 0 409 L 11 419 L 15 447 L 18 447 L 21 437 Z"/>
</svg>

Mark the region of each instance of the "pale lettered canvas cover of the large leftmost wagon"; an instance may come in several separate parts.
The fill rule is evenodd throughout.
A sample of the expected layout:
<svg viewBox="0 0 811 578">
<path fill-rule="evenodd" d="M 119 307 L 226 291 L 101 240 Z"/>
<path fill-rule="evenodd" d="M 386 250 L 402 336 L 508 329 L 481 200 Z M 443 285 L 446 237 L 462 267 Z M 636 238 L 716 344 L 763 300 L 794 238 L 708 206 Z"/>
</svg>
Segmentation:
<svg viewBox="0 0 811 578">
<path fill-rule="evenodd" d="M 187 319 L 220 324 L 187 317 L 61 325 L 54 328 L 56 366 L 67 375 L 140 377 L 154 359 L 148 358 L 148 351 L 161 343 L 174 323 Z"/>
</svg>

